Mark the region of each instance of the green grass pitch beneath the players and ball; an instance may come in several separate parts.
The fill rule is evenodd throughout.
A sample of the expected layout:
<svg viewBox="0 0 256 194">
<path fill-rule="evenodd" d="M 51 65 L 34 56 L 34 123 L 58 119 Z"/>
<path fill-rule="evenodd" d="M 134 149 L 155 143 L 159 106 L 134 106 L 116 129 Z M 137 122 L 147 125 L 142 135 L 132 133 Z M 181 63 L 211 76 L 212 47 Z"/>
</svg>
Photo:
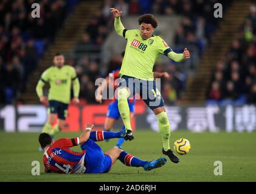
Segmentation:
<svg viewBox="0 0 256 194">
<path fill-rule="evenodd" d="M 56 138 L 75 137 L 78 133 L 61 133 Z M 141 159 L 163 156 L 161 138 L 150 130 L 137 130 L 135 139 L 123 148 Z M 0 181 L 256 181 L 256 133 L 190 133 L 173 132 L 171 142 L 189 139 L 192 149 L 179 156 L 174 164 L 145 172 L 142 168 L 126 167 L 117 161 L 105 174 L 46 174 L 42 153 L 38 152 L 38 133 L 0 133 Z M 99 142 L 103 151 L 111 149 L 116 139 Z M 172 143 L 171 143 L 172 144 Z M 79 147 L 75 148 L 79 150 Z M 40 161 L 40 176 L 32 176 L 32 161 Z M 223 175 L 215 176 L 215 161 L 223 162 Z"/>
</svg>

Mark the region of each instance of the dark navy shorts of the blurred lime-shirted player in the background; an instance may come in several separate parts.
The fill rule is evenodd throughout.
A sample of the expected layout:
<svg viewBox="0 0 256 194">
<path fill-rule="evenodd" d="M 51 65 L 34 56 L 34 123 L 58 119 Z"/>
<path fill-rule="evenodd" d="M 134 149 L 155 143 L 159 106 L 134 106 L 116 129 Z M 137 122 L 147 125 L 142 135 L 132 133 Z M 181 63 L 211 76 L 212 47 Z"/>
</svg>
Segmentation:
<svg viewBox="0 0 256 194">
<path fill-rule="evenodd" d="M 59 101 L 49 101 L 48 112 L 58 114 L 59 119 L 65 120 L 69 105 Z"/>
</svg>

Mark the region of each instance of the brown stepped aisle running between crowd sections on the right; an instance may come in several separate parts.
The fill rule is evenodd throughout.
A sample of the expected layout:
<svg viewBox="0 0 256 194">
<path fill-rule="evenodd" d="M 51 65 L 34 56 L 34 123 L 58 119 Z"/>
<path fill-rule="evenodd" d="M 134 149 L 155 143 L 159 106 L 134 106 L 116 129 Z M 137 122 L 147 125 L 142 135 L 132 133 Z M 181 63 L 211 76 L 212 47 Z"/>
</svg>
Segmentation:
<svg viewBox="0 0 256 194">
<path fill-rule="evenodd" d="M 251 1 L 232 1 L 220 19 L 218 30 L 212 35 L 212 42 L 202 56 L 196 76 L 187 80 L 187 90 L 182 95 L 181 105 L 204 104 L 207 86 L 218 61 L 225 58 L 230 44 L 240 32 L 244 19 L 249 14 Z M 216 55 L 218 53 L 218 55 Z"/>
</svg>

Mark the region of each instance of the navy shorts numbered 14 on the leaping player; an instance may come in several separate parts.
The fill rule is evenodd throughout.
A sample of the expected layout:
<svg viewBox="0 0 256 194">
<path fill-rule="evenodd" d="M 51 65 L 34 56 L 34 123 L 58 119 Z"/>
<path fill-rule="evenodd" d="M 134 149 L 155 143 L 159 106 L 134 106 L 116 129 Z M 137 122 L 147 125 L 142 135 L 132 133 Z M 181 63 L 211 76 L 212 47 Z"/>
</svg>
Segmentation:
<svg viewBox="0 0 256 194">
<path fill-rule="evenodd" d="M 139 93 L 140 97 L 151 110 L 164 106 L 161 93 L 156 88 L 156 81 L 146 81 L 123 75 L 122 78 L 120 78 L 119 87 L 128 87 L 131 92 L 130 96 Z"/>
</svg>

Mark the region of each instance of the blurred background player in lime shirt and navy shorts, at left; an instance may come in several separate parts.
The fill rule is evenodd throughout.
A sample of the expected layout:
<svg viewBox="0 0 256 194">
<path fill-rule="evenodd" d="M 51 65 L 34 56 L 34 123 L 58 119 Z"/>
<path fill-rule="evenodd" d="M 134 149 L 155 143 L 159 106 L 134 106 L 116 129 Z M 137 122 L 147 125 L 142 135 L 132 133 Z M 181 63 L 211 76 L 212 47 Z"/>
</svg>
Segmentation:
<svg viewBox="0 0 256 194">
<path fill-rule="evenodd" d="M 46 82 L 50 84 L 48 98 L 43 95 L 43 86 Z M 53 136 L 64 128 L 71 98 L 71 82 L 74 90 L 73 102 L 77 104 L 79 102 L 80 84 L 75 69 L 69 65 L 64 65 L 64 56 L 57 53 L 54 56 L 54 65 L 44 71 L 36 85 L 36 93 L 40 101 L 49 105 L 48 121 L 43 127 L 44 133 L 50 133 Z M 58 123 L 53 127 L 57 115 Z"/>
</svg>

